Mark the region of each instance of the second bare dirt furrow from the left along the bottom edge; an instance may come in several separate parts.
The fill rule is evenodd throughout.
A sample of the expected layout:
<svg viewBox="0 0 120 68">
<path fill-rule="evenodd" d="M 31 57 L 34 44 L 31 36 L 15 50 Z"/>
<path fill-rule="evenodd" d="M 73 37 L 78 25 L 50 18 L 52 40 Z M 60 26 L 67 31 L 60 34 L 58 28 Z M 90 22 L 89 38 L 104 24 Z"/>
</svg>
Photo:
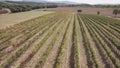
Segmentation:
<svg viewBox="0 0 120 68">
<path fill-rule="evenodd" d="M 61 22 L 57 22 L 57 24 L 61 25 Z M 43 53 L 47 49 L 48 45 L 52 41 L 53 37 L 57 33 L 58 29 L 60 28 L 60 25 L 59 25 L 59 27 L 57 27 L 57 29 L 54 31 L 54 33 L 49 37 L 49 39 L 42 45 L 40 50 L 35 54 L 35 56 L 30 60 L 30 62 L 28 62 L 25 65 L 25 68 L 35 68 L 36 64 L 39 62 L 39 59 L 41 58 L 41 56 L 43 55 Z"/>
</svg>

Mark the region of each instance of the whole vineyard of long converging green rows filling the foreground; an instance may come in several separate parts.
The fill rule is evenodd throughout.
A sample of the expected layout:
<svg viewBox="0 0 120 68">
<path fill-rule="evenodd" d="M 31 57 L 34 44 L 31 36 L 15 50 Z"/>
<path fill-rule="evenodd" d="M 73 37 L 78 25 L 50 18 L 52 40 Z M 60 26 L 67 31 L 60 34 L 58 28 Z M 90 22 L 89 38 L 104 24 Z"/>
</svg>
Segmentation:
<svg viewBox="0 0 120 68">
<path fill-rule="evenodd" d="M 120 20 L 55 12 L 1 29 L 0 68 L 120 68 Z"/>
</svg>

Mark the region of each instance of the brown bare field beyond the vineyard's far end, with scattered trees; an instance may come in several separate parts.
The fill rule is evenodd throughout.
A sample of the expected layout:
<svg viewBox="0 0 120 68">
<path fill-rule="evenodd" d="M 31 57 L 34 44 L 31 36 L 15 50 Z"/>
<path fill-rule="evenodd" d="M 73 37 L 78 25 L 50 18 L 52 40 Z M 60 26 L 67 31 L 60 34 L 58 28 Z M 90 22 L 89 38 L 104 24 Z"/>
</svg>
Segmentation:
<svg viewBox="0 0 120 68">
<path fill-rule="evenodd" d="M 96 8 L 96 7 L 58 7 L 58 8 L 50 8 L 49 11 L 57 11 L 57 12 L 77 12 L 77 10 L 82 10 L 81 14 L 97 14 L 97 11 L 100 12 L 100 15 L 114 17 L 113 10 L 114 8 Z M 117 15 L 120 17 L 120 14 Z"/>
</svg>

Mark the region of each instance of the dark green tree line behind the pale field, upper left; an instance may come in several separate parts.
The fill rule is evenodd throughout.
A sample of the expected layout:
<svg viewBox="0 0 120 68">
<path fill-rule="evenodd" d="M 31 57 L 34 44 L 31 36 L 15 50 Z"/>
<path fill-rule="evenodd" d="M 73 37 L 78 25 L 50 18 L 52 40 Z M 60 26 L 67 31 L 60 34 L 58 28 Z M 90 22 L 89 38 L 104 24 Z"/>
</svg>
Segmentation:
<svg viewBox="0 0 120 68">
<path fill-rule="evenodd" d="M 34 9 L 40 9 L 40 8 L 56 8 L 56 7 L 57 7 L 57 5 L 54 5 L 54 4 L 32 5 L 32 4 L 5 4 L 5 3 L 0 3 L 0 9 L 8 8 L 8 9 L 11 10 L 12 13 L 30 11 L 30 10 L 34 10 Z"/>
</svg>

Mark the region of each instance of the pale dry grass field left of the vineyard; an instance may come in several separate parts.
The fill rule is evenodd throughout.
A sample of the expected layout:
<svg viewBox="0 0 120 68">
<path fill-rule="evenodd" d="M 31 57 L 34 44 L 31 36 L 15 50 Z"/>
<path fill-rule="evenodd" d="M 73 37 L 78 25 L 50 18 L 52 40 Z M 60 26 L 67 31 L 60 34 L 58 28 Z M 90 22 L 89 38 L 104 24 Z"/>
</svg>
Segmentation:
<svg viewBox="0 0 120 68">
<path fill-rule="evenodd" d="M 53 12 L 48 11 L 28 11 L 21 13 L 13 13 L 13 14 L 2 14 L 0 15 L 0 28 L 5 28 L 7 26 L 26 21 L 32 18 L 36 18 L 42 15 L 46 15 Z"/>
</svg>

